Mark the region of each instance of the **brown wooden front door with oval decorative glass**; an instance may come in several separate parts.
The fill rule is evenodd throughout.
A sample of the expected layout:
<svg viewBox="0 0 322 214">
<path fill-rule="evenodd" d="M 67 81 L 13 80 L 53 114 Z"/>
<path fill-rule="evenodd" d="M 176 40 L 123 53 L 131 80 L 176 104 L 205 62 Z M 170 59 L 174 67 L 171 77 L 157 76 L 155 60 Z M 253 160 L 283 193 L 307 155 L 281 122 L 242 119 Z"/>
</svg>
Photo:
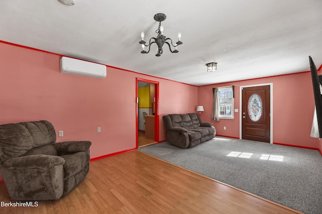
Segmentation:
<svg viewBox="0 0 322 214">
<path fill-rule="evenodd" d="M 270 142 L 270 86 L 242 89 L 242 139 Z"/>
</svg>

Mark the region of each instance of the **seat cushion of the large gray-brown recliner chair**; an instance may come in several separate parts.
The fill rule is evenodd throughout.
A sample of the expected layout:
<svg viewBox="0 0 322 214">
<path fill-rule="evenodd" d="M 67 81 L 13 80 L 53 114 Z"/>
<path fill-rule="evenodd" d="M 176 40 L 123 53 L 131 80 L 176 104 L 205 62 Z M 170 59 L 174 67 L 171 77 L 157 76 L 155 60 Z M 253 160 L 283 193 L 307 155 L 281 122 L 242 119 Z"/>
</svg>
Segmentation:
<svg viewBox="0 0 322 214">
<path fill-rule="evenodd" d="M 86 151 L 62 155 L 60 157 L 65 159 L 63 167 L 66 179 L 81 171 L 90 161 L 90 154 Z"/>
</svg>

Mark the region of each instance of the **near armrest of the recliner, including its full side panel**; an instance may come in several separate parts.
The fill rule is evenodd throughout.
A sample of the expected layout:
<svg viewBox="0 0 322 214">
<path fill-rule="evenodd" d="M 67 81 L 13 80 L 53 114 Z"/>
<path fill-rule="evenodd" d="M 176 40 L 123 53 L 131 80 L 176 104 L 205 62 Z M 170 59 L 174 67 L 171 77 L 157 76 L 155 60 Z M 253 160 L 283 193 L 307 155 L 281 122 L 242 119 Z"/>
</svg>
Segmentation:
<svg viewBox="0 0 322 214">
<path fill-rule="evenodd" d="M 14 157 L 0 167 L 12 200 L 56 200 L 64 190 L 64 158 L 36 154 Z"/>
</svg>

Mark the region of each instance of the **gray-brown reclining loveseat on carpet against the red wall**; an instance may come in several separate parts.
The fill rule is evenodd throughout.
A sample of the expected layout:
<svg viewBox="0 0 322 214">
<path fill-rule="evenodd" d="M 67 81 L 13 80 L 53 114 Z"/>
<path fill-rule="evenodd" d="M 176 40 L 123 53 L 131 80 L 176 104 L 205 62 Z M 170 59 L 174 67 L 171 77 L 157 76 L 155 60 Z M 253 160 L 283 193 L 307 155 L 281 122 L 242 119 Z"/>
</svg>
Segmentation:
<svg viewBox="0 0 322 214">
<path fill-rule="evenodd" d="M 213 123 L 202 122 L 197 113 L 163 116 L 167 141 L 180 148 L 192 148 L 215 137 Z"/>
</svg>

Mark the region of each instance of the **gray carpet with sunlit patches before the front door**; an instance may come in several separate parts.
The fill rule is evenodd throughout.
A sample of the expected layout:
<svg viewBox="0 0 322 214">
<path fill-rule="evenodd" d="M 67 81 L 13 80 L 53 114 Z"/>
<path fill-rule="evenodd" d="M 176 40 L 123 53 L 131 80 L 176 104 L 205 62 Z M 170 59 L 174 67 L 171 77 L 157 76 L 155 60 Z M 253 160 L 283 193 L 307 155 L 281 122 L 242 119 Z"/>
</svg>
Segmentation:
<svg viewBox="0 0 322 214">
<path fill-rule="evenodd" d="M 218 136 L 194 148 L 163 142 L 138 150 L 301 212 L 322 213 L 317 150 Z"/>
</svg>

